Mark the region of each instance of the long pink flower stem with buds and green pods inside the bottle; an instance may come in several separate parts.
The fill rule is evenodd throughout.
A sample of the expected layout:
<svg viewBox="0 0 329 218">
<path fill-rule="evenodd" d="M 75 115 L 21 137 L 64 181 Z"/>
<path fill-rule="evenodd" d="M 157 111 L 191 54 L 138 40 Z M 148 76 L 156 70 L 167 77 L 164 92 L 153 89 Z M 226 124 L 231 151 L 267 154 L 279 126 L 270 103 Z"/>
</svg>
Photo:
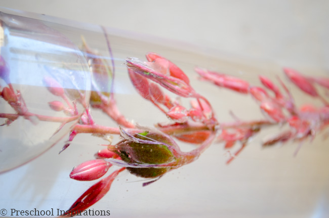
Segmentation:
<svg viewBox="0 0 329 218">
<path fill-rule="evenodd" d="M 265 141 L 263 146 L 289 140 L 302 141 L 314 137 L 329 124 L 329 104 L 316 89 L 316 85 L 329 89 L 327 78 L 306 77 L 296 70 L 283 69 L 289 80 L 302 92 L 323 102 L 323 106 L 319 108 L 312 105 L 298 108 L 289 89 L 279 78 L 278 83 L 284 93 L 265 76 L 259 76 L 263 84 L 263 87 L 260 87 L 224 73 L 195 68 L 200 80 L 242 95 L 251 95 L 265 115 L 262 120 L 224 123 L 217 120 L 211 103 L 193 89 L 188 76 L 178 66 L 158 54 L 147 53 L 147 61 L 137 58 L 126 60 L 128 74 L 139 95 L 166 114 L 171 122 L 156 123 L 153 128 L 139 127 L 126 119 L 116 107 L 112 92 L 114 65 L 110 67 L 102 56 L 88 47 L 85 40 L 83 42 L 81 51 L 90 64 L 93 78 L 90 105 L 84 102 L 84 93 L 66 90 L 55 78 L 44 77 L 43 82 L 48 91 L 60 98 L 49 102 L 49 106 L 52 110 L 63 112 L 67 116 L 62 118 L 30 113 L 20 92 L 13 89 L 9 80 L 9 68 L 0 56 L 0 78 L 7 84 L 3 88 L 0 87 L 0 96 L 16 112 L 0 113 L 1 118 L 6 118 L 3 125 L 10 125 L 19 116 L 30 121 L 33 121 L 30 119 L 33 116 L 40 121 L 60 122 L 62 125 L 78 118 L 78 123 L 71 129 L 68 141 L 60 152 L 81 133 L 93 134 L 109 141 L 105 149 L 95 154 L 95 159 L 74 167 L 69 176 L 78 181 L 92 181 L 105 176 L 112 166 L 118 166 L 119 169 L 114 168 L 109 176 L 89 188 L 69 210 L 84 210 L 99 201 L 109 191 L 116 176 L 125 169 L 137 177 L 152 178 L 154 182 L 168 171 L 195 161 L 212 143 L 224 143 L 225 149 L 232 149 L 236 142 L 239 142 L 240 148 L 227 160 L 227 163 L 230 163 L 248 144 L 249 139 L 267 126 L 286 123 L 290 128 Z M 180 101 L 170 97 L 172 95 L 168 92 L 179 98 L 189 99 L 190 106 L 182 105 Z M 71 95 L 77 96 L 74 101 L 68 98 Z M 77 102 L 85 106 L 85 111 L 80 112 L 81 116 L 78 116 Z M 92 109 L 102 110 L 117 123 L 117 126 L 96 124 L 92 117 Z M 120 135 L 121 140 L 112 145 L 109 135 Z M 182 152 L 174 139 L 194 144 L 195 149 Z"/>
</svg>

